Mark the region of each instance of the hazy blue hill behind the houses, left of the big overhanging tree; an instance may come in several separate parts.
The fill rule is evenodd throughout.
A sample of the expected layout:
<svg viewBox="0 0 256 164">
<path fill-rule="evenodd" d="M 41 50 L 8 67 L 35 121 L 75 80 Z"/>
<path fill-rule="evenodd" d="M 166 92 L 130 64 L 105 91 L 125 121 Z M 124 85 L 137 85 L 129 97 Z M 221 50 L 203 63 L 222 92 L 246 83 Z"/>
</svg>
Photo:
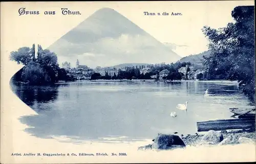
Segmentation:
<svg viewBox="0 0 256 164">
<path fill-rule="evenodd" d="M 210 55 L 210 51 L 204 51 L 199 54 L 190 54 L 190 56 L 181 58 L 179 62 L 190 62 L 192 65 L 195 66 L 196 69 L 202 69 L 204 68 L 204 65 L 202 63 L 203 56 L 208 57 Z"/>
</svg>

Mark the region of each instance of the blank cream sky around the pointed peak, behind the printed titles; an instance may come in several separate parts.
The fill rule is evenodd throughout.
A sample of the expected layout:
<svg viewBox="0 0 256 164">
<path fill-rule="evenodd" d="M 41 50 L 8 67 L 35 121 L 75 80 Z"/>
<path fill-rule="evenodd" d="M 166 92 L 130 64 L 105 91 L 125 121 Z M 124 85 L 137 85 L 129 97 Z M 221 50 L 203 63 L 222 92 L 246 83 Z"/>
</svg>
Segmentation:
<svg viewBox="0 0 256 164">
<path fill-rule="evenodd" d="M 208 41 L 201 29 L 204 25 L 222 28 L 232 22 L 231 11 L 239 5 L 254 5 L 254 1 L 195 1 L 195 2 L 23 2 L 1 3 L 1 46 L 10 52 L 22 46 L 41 44 L 43 48 L 65 35 L 95 11 L 108 7 L 116 10 L 158 41 L 173 43 L 173 50 L 180 57 L 207 50 Z M 38 10 L 40 15 L 21 15 L 20 6 L 26 10 Z M 80 11 L 81 15 L 62 15 L 61 7 Z M 56 11 L 44 15 L 44 11 Z M 144 11 L 154 13 L 182 13 L 181 16 L 145 16 Z M 8 15 L 8 16 L 7 16 Z M 1 48 L 2 48 L 1 47 Z M 175 49 L 174 49 L 175 48 Z M 104 61 L 102 61 L 104 62 Z M 103 65 L 103 63 L 99 63 Z"/>
</svg>

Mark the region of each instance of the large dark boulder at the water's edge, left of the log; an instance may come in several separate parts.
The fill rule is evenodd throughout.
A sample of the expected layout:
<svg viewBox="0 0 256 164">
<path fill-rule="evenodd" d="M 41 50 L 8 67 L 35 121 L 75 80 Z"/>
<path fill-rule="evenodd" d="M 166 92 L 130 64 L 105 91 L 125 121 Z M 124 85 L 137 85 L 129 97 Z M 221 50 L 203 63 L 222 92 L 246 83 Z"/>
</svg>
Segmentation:
<svg viewBox="0 0 256 164">
<path fill-rule="evenodd" d="M 170 150 L 175 148 L 184 148 L 186 145 L 178 135 L 159 133 L 152 147 L 158 150 Z"/>
</svg>

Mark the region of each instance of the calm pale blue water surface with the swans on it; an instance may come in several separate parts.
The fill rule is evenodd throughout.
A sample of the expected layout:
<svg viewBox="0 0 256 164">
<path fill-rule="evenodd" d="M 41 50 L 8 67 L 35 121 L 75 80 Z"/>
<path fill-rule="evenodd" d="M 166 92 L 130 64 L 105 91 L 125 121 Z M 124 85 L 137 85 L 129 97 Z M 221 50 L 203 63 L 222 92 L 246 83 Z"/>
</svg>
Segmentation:
<svg viewBox="0 0 256 164">
<path fill-rule="evenodd" d="M 234 83 L 76 81 L 39 87 L 11 85 L 36 116 L 20 121 L 39 137 L 119 141 L 153 139 L 157 133 L 194 134 L 197 121 L 231 119 L 229 107 L 250 107 Z M 209 96 L 204 97 L 208 89 Z M 176 108 L 188 101 L 188 110 Z M 177 117 L 170 117 L 176 112 Z M 33 128 L 32 128 L 33 127 Z"/>
</svg>

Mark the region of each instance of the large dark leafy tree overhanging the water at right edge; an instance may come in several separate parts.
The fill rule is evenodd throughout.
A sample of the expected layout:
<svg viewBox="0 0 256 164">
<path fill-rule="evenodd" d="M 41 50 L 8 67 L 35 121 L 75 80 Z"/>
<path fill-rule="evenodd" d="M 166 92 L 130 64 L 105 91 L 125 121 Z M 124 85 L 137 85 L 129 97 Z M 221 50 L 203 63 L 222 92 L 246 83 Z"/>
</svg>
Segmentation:
<svg viewBox="0 0 256 164">
<path fill-rule="evenodd" d="M 206 72 L 210 78 L 238 80 L 242 91 L 255 98 L 254 7 L 238 6 L 231 16 L 235 22 L 224 28 L 202 29 L 210 42 L 210 55 L 204 57 Z"/>
</svg>

